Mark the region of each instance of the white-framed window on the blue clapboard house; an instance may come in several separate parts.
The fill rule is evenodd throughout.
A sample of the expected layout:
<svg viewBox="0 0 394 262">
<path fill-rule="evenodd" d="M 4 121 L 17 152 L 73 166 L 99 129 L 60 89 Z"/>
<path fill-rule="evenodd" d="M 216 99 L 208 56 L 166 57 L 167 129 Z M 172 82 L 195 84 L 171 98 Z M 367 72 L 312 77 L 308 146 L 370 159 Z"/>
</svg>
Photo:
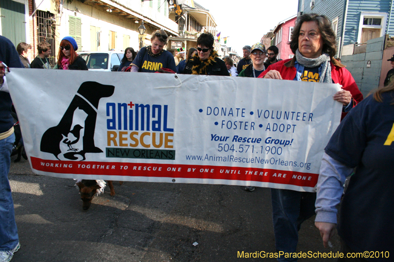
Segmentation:
<svg viewBox="0 0 394 262">
<path fill-rule="evenodd" d="M 387 13 L 361 13 L 357 42 L 366 43 L 386 32 Z"/>
</svg>

